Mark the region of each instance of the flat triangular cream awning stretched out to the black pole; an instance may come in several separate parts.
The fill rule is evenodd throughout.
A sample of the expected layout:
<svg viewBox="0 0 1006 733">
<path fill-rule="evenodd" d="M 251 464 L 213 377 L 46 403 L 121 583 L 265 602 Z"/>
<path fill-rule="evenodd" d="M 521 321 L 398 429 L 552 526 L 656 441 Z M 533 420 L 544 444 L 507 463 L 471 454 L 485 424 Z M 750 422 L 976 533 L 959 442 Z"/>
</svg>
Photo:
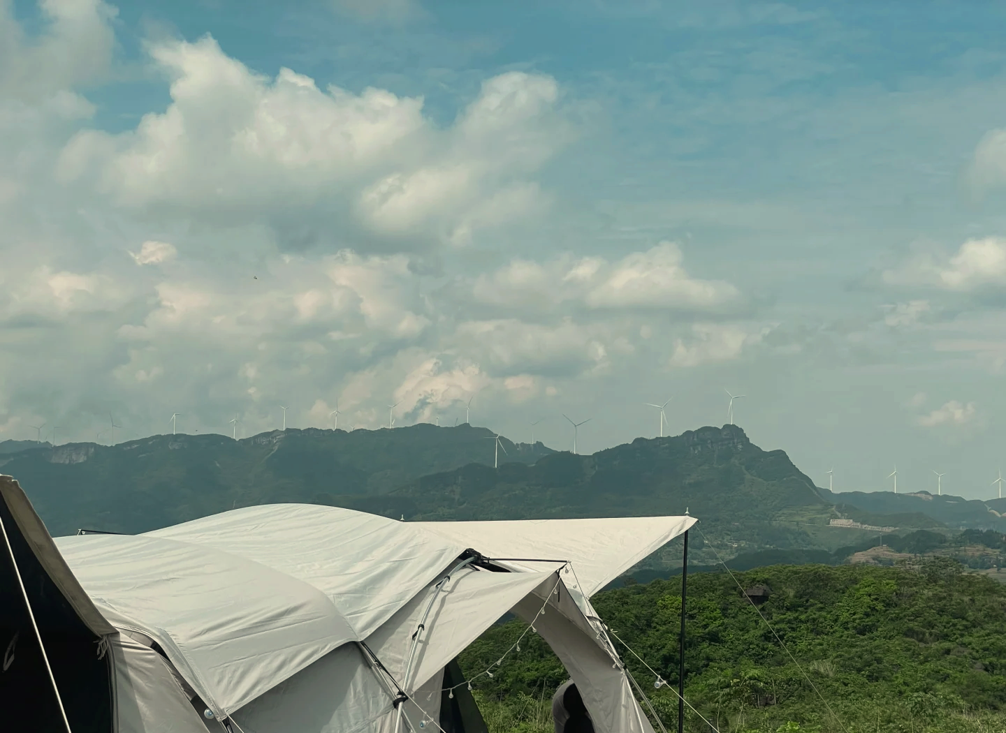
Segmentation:
<svg viewBox="0 0 1006 733">
<path fill-rule="evenodd" d="M 571 562 L 579 590 L 591 597 L 658 548 L 684 533 L 694 517 L 409 522 L 494 558 Z M 545 570 L 554 563 L 509 562 Z M 571 583 L 570 589 L 573 589 Z"/>
</svg>

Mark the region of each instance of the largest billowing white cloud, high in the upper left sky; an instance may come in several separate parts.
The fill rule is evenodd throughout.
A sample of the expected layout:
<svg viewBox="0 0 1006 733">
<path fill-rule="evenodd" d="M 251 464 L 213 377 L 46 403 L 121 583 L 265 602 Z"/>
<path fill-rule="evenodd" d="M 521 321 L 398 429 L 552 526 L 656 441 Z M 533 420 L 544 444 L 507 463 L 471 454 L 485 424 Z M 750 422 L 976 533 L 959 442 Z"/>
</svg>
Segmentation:
<svg viewBox="0 0 1006 733">
<path fill-rule="evenodd" d="M 317 220 L 346 236 L 410 248 L 466 244 L 475 233 L 539 210 L 530 178 L 567 137 L 550 76 L 510 71 L 486 80 L 447 130 L 422 98 L 359 95 L 283 68 L 275 79 L 227 56 L 211 37 L 162 43 L 151 57 L 171 104 L 118 135 L 91 130 L 62 152 L 69 182 L 96 175 L 120 206 L 233 224 L 253 219 L 282 237 Z M 389 244 L 388 244 L 389 245 Z"/>
</svg>

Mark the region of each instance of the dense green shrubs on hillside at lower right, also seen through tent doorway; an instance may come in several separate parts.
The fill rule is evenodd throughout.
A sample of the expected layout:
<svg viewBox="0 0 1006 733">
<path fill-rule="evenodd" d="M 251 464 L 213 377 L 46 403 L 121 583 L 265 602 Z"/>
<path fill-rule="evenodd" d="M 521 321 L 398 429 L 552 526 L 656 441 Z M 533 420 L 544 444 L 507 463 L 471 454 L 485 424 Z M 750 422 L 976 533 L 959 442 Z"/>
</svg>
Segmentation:
<svg viewBox="0 0 1006 733">
<path fill-rule="evenodd" d="M 805 565 L 737 573 L 742 588 L 771 588 L 759 610 L 788 653 L 729 575 L 692 575 L 686 698 L 723 731 L 1002 730 L 1006 586 L 962 570 L 935 557 L 915 569 Z M 594 603 L 613 631 L 677 684 L 679 578 L 605 591 Z M 490 629 L 465 653 L 463 667 L 486 669 L 522 629 L 519 621 Z M 490 723 L 546 730 L 534 718 L 564 672 L 533 634 L 521 649 L 492 679 L 482 678 L 480 699 Z M 674 693 L 654 690 L 653 674 L 632 655 L 623 658 L 673 722 Z M 694 714 L 688 729 L 708 730 Z"/>
</svg>

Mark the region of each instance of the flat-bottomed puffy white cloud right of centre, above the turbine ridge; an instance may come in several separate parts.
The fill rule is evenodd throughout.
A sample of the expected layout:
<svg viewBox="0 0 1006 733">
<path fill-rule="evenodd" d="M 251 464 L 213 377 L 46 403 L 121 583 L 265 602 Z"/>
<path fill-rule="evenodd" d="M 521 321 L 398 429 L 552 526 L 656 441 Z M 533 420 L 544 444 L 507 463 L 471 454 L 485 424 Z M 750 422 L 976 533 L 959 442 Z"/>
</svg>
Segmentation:
<svg viewBox="0 0 1006 733">
<path fill-rule="evenodd" d="M 574 304 L 589 310 L 729 311 L 740 292 L 723 281 L 693 278 L 681 248 L 664 241 L 620 260 L 565 254 L 545 262 L 514 259 L 472 285 L 484 304 L 531 309 Z"/>
</svg>

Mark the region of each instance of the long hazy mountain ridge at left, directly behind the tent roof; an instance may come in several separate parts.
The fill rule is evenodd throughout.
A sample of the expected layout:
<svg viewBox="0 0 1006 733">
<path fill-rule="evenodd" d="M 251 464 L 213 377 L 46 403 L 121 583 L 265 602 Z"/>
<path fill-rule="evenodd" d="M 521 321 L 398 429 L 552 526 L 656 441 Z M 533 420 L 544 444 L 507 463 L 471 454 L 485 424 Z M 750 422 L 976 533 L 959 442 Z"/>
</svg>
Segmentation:
<svg viewBox="0 0 1006 733">
<path fill-rule="evenodd" d="M 491 467 L 494 433 L 467 423 L 394 429 L 154 435 L 114 446 L 69 443 L 0 455 L 49 532 L 78 528 L 144 532 L 234 506 L 372 497 L 396 486 L 473 464 Z M 552 453 L 501 438 L 500 457 L 533 463 Z"/>
</svg>

